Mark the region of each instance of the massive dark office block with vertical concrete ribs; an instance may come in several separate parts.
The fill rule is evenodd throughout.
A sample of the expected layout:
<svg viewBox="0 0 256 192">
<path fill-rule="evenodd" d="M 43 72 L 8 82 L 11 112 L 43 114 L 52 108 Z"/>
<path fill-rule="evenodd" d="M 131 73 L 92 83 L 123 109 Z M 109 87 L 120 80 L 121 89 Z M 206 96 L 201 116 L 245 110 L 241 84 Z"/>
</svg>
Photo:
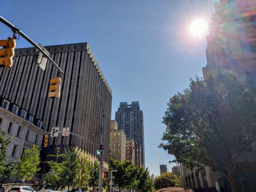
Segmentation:
<svg viewBox="0 0 256 192">
<path fill-rule="evenodd" d="M 70 132 L 99 144 L 99 130 L 105 113 L 105 167 L 109 156 L 112 92 L 88 43 L 47 46 L 50 57 L 61 67 L 60 99 L 49 98 L 49 80 L 57 70 L 49 62 L 43 71 L 35 64 L 36 48 L 15 49 L 11 70 L 0 68 L 0 96 L 29 111 L 42 121 L 42 129 L 69 127 Z M 33 123 L 33 122 L 32 122 Z M 98 145 L 75 135 L 49 139 L 43 155 L 54 153 L 55 146 L 77 146 L 91 160 L 97 160 Z M 43 159 L 44 161 L 44 159 Z"/>
</svg>

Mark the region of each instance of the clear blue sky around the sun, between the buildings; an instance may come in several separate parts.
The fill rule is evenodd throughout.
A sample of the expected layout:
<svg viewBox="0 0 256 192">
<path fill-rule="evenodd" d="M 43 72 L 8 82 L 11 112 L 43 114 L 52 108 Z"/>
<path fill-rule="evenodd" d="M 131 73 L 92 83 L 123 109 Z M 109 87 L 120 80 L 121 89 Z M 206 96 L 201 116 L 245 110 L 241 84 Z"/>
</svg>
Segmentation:
<svg viewBox="0 0 256 192">
<path fill-rule="evenodd" d="M 150 173 L 169 171 L 174 157 L 158 148 L 171 96 L 206 66 L 205 36 L 190 33 L 210 22 L 218 0 L 2 0 L 1 16 L 43 46 L 88 42 L 110 88 L 112 119 L 120 102 L 139 101 L 144 113 L 145 159 Z M 0 23 L 0 39 L 12 31 Z M 31 47 L 22 37 L 16 48 Z"/>
</svg>

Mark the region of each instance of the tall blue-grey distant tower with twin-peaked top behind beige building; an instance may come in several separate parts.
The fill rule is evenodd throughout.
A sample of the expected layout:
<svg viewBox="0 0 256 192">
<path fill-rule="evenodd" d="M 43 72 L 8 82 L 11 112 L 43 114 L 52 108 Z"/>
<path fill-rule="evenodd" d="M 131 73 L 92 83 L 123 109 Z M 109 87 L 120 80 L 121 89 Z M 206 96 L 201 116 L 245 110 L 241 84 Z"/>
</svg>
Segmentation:
<svg viewBox="0 0 256 192">
<path fill-rule="evenodd" d="M 134 143 L 140 145 L 141 165 L 145 167 L 144 121 L 139 102 L 133 101 L 131 105 L 121 102 L 115 113 L 115 120 L 118 123 L 118 128 L 124 130 L 126 138 L 133 138 Z"/>
</svg>

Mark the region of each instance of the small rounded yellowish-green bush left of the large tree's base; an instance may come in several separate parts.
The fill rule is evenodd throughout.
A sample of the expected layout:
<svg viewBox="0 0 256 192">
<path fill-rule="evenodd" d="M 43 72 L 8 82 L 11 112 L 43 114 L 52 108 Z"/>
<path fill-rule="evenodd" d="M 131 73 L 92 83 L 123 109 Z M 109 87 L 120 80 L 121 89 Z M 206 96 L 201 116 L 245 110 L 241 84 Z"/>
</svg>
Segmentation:
<svg viewBox="0 0 256 192">
<path fill-rule="evenodd" d="M 173 173 L 163 173 L 155 180 L 155 188 L 163 189 L 167 187 L 180 187 L 181 180 Z"/>
</svg>

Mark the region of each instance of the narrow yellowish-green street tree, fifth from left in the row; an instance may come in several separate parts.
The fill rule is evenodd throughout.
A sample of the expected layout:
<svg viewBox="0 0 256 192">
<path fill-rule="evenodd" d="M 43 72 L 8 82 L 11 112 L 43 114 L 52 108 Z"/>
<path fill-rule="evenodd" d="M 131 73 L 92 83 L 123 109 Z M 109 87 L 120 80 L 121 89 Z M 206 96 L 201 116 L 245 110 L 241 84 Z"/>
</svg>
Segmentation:
<svg viewBox="0 0 256 192">
<path fill-rule="evenodd" d="M 90 161 L 86 156 L 79 157 L 79 168 L 77 174 L 77 186 L 82 188 L 83 186 L 88 185 L 90 179 Z"/>
</svg>

